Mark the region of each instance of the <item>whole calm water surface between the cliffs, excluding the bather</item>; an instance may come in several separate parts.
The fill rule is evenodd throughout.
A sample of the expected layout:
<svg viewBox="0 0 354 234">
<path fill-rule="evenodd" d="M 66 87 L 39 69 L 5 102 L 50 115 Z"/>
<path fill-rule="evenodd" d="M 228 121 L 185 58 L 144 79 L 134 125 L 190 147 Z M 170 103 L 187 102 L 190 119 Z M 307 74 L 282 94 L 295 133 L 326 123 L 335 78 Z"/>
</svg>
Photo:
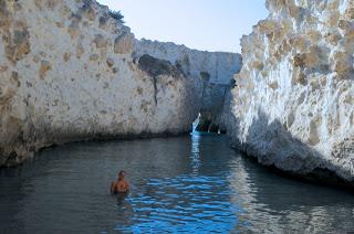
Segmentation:
<svg viewBox="0 0 354 234">
<path fill-rule="evenodd" d="M 110 194 L 118 170 L 132 191 Z M 354 196 L 270 173 L 225 136 L 70 143 L 0 170 L 1 233 L 350 233 Z"/>
</svg>

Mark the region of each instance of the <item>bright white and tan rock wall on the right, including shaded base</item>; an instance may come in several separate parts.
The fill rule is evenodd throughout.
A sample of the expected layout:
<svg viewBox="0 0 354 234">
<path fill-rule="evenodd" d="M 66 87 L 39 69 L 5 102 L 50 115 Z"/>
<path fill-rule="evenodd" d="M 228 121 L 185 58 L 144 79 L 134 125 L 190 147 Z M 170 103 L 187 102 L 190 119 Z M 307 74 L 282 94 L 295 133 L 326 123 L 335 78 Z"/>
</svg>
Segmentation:
<svg viewBox="0 0 354 234">
<path fill-rule="evenodd" d="M 233 142 L 259 162 L 354 180 L 354 2 L 268 0 L 270 15 L 242 39 Z"/>
</svg>

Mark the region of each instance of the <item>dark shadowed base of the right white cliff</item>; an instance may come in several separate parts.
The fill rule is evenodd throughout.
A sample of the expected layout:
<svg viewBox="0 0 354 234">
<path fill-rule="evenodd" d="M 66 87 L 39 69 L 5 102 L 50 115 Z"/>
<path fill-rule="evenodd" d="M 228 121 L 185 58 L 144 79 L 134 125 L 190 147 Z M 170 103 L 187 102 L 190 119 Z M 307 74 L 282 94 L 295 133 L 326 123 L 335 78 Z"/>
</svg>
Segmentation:
<svg viewBox="0 0 354 234">
<path fill-rule="evenodd" d="M 334 171 L 337 166 L 324 160 L 319 151 L 294 138 L 279 120 L 270 123 L 268 116 L 260 110 L 249 127 L 247 139 L 240 143 L 236 137 L 239 135 L 239 120 L 231 114 L 228 117 L 231 123 L 229 132 L 233 132 L 230 136 L 231 147 L 268 167 L 269 171 L 302 182 L 354 192 L 354 181 L 345 181 L 339 177 Z"/>
</svg>

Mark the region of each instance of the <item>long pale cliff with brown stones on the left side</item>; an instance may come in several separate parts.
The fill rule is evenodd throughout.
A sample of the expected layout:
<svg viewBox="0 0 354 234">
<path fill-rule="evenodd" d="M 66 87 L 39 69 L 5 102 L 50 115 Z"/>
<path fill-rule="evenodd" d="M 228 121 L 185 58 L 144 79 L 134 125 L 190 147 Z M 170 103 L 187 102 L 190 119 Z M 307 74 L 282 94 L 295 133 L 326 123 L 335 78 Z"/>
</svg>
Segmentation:
<svg viewBox="0 0 354 234">
<path fill-rule="evenodd" d="M 0 0 L 0 167 L 53 143 L 189 131 L 199 113 L 201 74 L 136 56 L 93 0 Z"/>
</svg>

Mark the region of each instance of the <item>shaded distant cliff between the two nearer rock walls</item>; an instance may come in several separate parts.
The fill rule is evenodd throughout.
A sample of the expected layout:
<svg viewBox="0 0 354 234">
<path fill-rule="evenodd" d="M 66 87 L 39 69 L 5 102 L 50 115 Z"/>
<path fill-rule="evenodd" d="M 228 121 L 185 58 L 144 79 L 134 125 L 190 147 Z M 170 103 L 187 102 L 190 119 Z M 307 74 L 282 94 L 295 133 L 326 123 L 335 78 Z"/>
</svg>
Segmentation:
<svg viewBox="0 0 354 234">
<path fill-rule="evenodd" d="M 197 94 L 194 105 L 200 111 L 197 129 L 218 131 L 225 97 L 233 84 L 233 74 L 239 73 L 242 66 L 241 55 L 196 51 L 170 42 L 136 40 L 134 56 L 144 54 L 169 61 L 194 83 Z"/>
</svg>

